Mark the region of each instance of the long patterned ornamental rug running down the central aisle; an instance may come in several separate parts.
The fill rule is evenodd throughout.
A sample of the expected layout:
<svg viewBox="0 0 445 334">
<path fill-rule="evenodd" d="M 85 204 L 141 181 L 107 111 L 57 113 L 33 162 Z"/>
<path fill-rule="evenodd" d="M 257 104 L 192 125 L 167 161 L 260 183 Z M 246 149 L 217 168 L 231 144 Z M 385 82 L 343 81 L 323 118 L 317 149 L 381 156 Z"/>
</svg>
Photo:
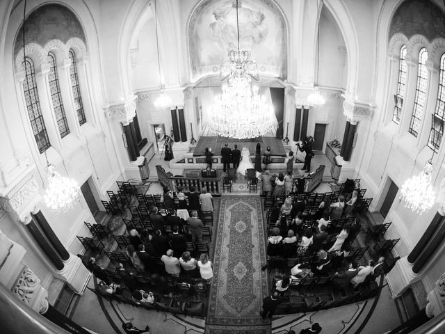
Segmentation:
<svg viewBox="0 0 445 334">
<path fill-rule="evenodd" d="M 220 201 L 213 282 L 206 333 L 270 333 L 259 315 L 268 295 L 266 244 L 259 197 L 223 197 Z"/>
</svg>

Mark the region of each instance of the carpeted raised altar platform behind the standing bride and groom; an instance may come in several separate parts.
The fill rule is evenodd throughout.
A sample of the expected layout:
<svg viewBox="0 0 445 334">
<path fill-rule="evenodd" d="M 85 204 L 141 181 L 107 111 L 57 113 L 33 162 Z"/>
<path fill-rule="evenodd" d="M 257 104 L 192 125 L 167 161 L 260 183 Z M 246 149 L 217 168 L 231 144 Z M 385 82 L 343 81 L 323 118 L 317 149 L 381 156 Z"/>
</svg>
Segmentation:
<svg viewBox="0 0 445 334">
<path fill-rule="evenodd" d="M 286 150 L 284 150 L 283 142 L 280 139 L 269 136 L 247 139 L 235 139 L 222 136 L 201 136 L 197 141 L 193 156 L 204 156 L 206 148 L 211 148 L 213 154 L 219 155 L 221 153 L 221 148 L 223 148 L 225 143 L 229 143 L 229 148 L 232 150 L 234 149 L 235 144 L 238 145 L 239 150 L 242 150 L 243 147 L 247 147 L 251 155 L 254 155 L 257 143 L 260 143 L 261 154 L 264 153 L 264 150 L 269 146 L 271 155 L 286 157 Z"/>
</svg>

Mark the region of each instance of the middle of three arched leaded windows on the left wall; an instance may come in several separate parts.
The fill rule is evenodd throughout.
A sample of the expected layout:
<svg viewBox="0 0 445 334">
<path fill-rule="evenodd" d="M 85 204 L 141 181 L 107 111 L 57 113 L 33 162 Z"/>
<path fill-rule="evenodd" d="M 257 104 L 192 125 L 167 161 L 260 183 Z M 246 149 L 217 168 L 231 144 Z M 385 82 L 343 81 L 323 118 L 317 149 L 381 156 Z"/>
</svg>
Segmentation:
<svg viewBox="0 0 445 334">
<path fill-rule="evenodd" d="M 58 84 L 56 56 L 52 52 L 48 53 L 49 63 L 49 91 L 51 93 L 51 102 L 53 102 L 54 115 L 56 115 L 56 121 L 60 136 L 63 138 L 70 133 L 68 127 L 67 116 L 65 115 L 65 109 L 63 109 L 62 97 L 60 96 L 60 86 Z"/>
</svg>

